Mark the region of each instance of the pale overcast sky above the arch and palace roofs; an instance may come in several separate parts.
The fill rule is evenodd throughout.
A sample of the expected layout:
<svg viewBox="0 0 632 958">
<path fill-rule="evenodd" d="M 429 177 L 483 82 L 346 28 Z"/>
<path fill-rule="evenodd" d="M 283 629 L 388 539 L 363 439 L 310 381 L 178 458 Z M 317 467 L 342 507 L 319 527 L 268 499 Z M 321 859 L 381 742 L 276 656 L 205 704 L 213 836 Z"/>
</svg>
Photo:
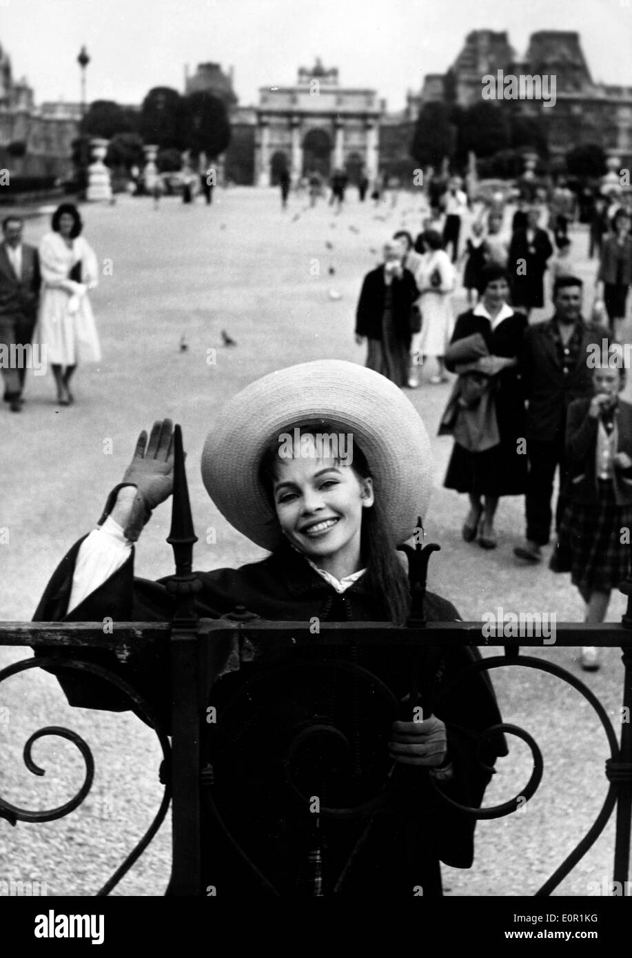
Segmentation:
<svg viewBox="0 0 632 958">
<path fill-rule="evenodd" d="M 89 101 L 182 90 L 186 63 L 214 60 L 235 67 L 239 102 L 257 103 L 320 56 L 395 110 L 485 27 L 508 30 L 519 55 L 531 32 L 576 30 L 594 80 L 632 85 L 632 0 L 0 0 L 0 44 L 36 103 L 79 100 L 85 43 Z"/>
</svg>

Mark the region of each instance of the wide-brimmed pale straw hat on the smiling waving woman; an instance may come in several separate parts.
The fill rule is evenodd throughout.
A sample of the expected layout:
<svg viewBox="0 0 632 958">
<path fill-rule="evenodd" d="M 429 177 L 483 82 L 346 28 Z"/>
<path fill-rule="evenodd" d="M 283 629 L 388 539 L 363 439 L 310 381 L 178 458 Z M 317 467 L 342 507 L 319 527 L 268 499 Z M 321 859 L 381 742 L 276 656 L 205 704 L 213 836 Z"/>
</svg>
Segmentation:
<svg viewBox="0 0 632 958">
<path fill-rule="evenodd" d="M 222 409 L 202 452 L 202 479 L 238 532 L 264 549 L 282 541 L 260 477 L 264 452 L 295 424 L 327 423 L 364 453 L 394 546 L 413 535 L 432 486 L 430 440 L 417 410 L 385 376 L 320 359 L 263 376 Z"/>
</svg>

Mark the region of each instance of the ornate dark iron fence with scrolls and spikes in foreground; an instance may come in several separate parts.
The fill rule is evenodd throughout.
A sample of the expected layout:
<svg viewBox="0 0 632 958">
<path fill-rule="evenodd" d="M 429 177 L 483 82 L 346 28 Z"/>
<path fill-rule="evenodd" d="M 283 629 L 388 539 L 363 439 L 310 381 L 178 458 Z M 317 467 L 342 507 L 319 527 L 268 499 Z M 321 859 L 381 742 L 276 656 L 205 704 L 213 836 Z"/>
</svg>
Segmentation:
<svg viewBox="0 0 632 958">
<path fill-rule="evenodd" d="M 173 517 L 168 541 L 173 547 L 176 560 L 176 573 L 169 582 L 169 590 L 176 598 L 176 613 L 171 623 L 118 623 L 105 632 L 102 622 L 98 623 L 5 623 L 0 625 L 0 645 L 26 646 L 36 650 L 55 650 L 73 648 L 77 650 L 70 660 L 60 661 L 55 655 L 30 658 L 15 662 L 0 671 L 0 683 L 17 673 L 34 668 L 54 667 L 56 670 L 74 670 L 90 673 L 113 685 L 133 703 L 138 715 L 143 717 L 155 729 L 160 743 L 163 762 L 160 769 L 160 781 L 164 793 L 160 809 L 134 850 L 127 855 L 123 864 L 103 885 L 99 896 L 105 896 L 123 878 L 133 863 L 143 854 L 147 845 L 164 821 L 169 803 L 172 803 L 172 865 L 167 894 L 175 896 L 198 896 L 206 894 L 202 887 L 202 793 L 207 797 L 212 792 L 213 768 L 205 762 L 205 731 L 207 731 L 207 710 L 210 693 L 217 676 L 231 662 L 232 668 L 241 665 L 262 666 L 261 674 L 269 676 L 282 669 L 301 668 L 301 656 L 309 650 L 310 662 L 318 663 L 320 668 L 337 670 L 354 676 L 356 682 L 368 683 L 372 693 L 381 698 L 393 709 L 394 718 L 403 718 L 401 704 L 394 693 L 376 674 L 358 664 L 357 651 L 372 649 L 377 655 L 395 658 L 401 656 L 410 668 L 410 699 L 407 708 L 414 708 L 418 702 L 419 656 L 424 650 L 447 646 L 502 647 L 503 653 L 482 658 L 473 662 L 451 680 L 446 695 L 456 684 L 466 679 L 468 674 L 489 673 L 494 670 L 528 668 L 549 673 L 572 686 L 590 704 L 603 728 L 606 740 L 605 775 L 608 791 L 601 810 L 587 833 L 577 842 L 575 849 L 553 875 L 535 893 L 537 896 L 550 895 L 565 878 L 580 858 L 597 840 L 613 812 L 616 810 L 616 837 L 614 850 L 613 877 L 621 886 L 628 878 L 630 856 L 630 833 L 632 821 L 632 581 L 623 583 L 621 590 L 628 596 L 628 608 L 621 625 L 601 625 L 557 623 L 555 646 L 597 646 L 617 647 L 622 650 L 623 690 L 621 702 L 621 737 L 599 702 L 598 697 L 575 675 L 545 659 L 524 654 L 524 648 L 540 648 L 550 645 L 547 637 L 508 639 L 495 635 L 485 636 L 480 622 L 411 622 L 408 627 L 395 627 L 384 623 L 327 623 L 320 624 L 318 634 L 313 633 L 309 623 L 269 622 L 254 619 L 245 610 L 237 609 L 228 619 L 198 620 L 194 613 L 194 597 L 200 583 L 192 573 L 192 545 L 195 536 L 189 496 L 184 472 L 184 457 L 179 427 L 176 427 L 176 465 L 173 496 Z M 417 551 L 409 550 L 411 560 L 413 588 L 425 589 L 425 572 L 430 553 L 438 548 L 431 545 Z M 80 650 L 115 650 L 123 657 L 132 650 L 147 649 L 152 645 L 162 649 L 169 647 L 171 665 L 171 709 L 169 719 L 159 716 L 138 691 L 130 686 L 120 675 L 92 662 L 81 661 Z M 41 654 L 41 652 L 40 652 Z M 256 680 L 256 679 L 255 679 Z M 252 683 L 252 676 L 244 680 L 244 685 Z M 238 690 L 237 690 L 238 691 Z M 440 700 L 423 702 L 426 712 L 440 705 Z M 169 734 L 168 734 L 169 733 Z M 499 818 L 520 808 L 520 800 L 529 801 L 542 779 L 543 760 L 541 751 L 530 734 L 519 726 L 499 724 L 487 730 L 488 735 L 504 733 L 525 741 L 530 747 L 533 758 L 533 770 L 529 782 L 521 788 L 519 795 L 509 797 L 495 807 L 467 808 L 441 792 L 441 783 L 433 781 L 433 787 L 440 793 L 441 801 L 456 806 L 464 813 L 477 819 Z M 297 730 L 289 741 L 283 758 L 286 770 L 287 787 L 292 789 L 297 800 L 308 804 L 309 796 L 302 794 L 293 779 L 292 761 L 296 750 L 305 745 L 313 735 L 337 736 L 346 740 L 346 732 L 336 728 L 331 719 L 314 718 L 313 721 Z M 59 726 L 47 726 L 35 732 L 24 746 L 24 762 L 35 775 L 43 775 L 33 760 L 34 741 L 45 736 L 60 736 L 77 745 L 85 763 L 85 777 L 78 793 L 65 804 L 50 810 L 28 810 L 12 805 L 0 796 L 0 817 L 12 825 L 18 822 L 45 822 L 61 818 L 79 808 L 92 786 L 94 759 L 89 745 L 76 733 Z M 170 741 L 169 741 L 170 738 Z M 366 814 L 377 808 L 388 787 L 389 773 L 378 782 L 374 794 L 364 798 L 361 806 L 345 809 L 321 809 L 321 814 L 335 815 Z M 430 777 L 430 780 L 431 777 Z M 209 788 L 211 786 L 211 788 Z M 221 823 L 221 816 L 211 799 L 211 808 Z M 234 835 L 231 840 L 244 861 L 258 874 L 261 883 L 269 891 L 276 890 L 261 876 L 248 855 L 238 847 Z M 319 894 L 315 891 L 314 894 Z"/>
</svg>

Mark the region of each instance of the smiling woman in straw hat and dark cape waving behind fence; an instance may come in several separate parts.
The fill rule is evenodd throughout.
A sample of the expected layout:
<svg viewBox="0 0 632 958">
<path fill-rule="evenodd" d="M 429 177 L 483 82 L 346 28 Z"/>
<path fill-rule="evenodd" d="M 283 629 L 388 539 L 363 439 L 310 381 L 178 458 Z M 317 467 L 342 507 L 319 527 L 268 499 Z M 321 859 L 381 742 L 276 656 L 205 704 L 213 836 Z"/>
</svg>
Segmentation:
<svg viewBox="0 0 632 958">
<path fill-rule="evenodd" d="M 214 422 L 202 453 L 204 484 L 228 521 L 271 555 L 199 573 L 199 615 L 217 618 L 240 605 L 287 622 L 458 617 L 429 593 L 423 608 L 412 604 L 395 551 L 425 512 L 432 458 L 417 411 L 392 382 L 348 362 L 304 363 L 247 386 Z M 337 448 L 330 445 L 336 437 Z M 171 617 L 165 582 L 134 580 L 131 547 L 170 494 L 169 420 L 154 424 L 146 444 L 143 433 L 124 487 L 108 499 L 109 517 L 63 560 L 38 619 L 56 612 L 65 621 L 107 614 L 121 621 L 121 609 L 133 609 L 138 621 Z M 274 633 L 266 636 L 268 645 L 274 641 Z M 478 657 L 465 646 L 435 652 L 434 659 L 422 653 L 424 689 L 448 686 Z M 480 804 L 491 774 L 482 763 L 506 754 L 502 737 L 473 745 L 474 729 L 500 721 L 486 677 L 477 673 L 454 694 L 448 689 L 440 716 L 393 722 L 375 675 L 405 699 L 410 662 L 380 659 L 351 642 L 348 653 L 327 657 L 318 638 L 314 651 L 302 653 L 281 666 L 272 655 L 267 669 L 237 654 L 214 682 L 216 726 L 200 719 L 214 768 L 204 787 L 203 886 L 239 900 L 297 895 L 316 862 L 318 884 L 307 894 L 382 900 L 410 896 L 419 884 L 424 895 L 440 895 L 440 860 L 471 865 L 473 822 L 442 803 L 428 776 L 455 801 Z M 155 651 L 124 663 L 103 653 L 102 663 L 137 687 L 143 682 L 156 709 L 169 707 L 169 662 L 158 668 Z M 118 706 L 108 703 L 104 686 L 91 688 L 75 671 L 60 682 L 71 704 L 129 707 L 120 696 Z M 375 791 L 382 798 L 372 810 L 367 798 Z M 305 794 L 338 811 L 312 814 Z M 360 815 L 349 811 L 357 806 Z"/>
</svg>

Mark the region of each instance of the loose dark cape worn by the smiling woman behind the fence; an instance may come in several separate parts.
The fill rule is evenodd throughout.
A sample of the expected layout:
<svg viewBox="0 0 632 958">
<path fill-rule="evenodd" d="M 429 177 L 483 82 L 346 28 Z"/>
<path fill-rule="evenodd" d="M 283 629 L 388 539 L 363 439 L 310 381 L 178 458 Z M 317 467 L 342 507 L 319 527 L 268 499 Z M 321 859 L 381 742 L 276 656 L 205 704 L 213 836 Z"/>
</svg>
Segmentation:
<svg viewBox="0 0 632 958">
<path fill-rule="evenodd" d="M 80 540 L 62 559 L 35 613 L 35 621 L 169 620 L 172 601 L 167 580 L 135 579 L 133 555 L 124 566 L 66 615 Z M 317 575 L 294 550 L 276 553 L 239 569 L 198 573 L 200 617 L 218 618 L 245 606 L 262 618 L 282 621 L 387 621 L 375 593 L 360 579 L 342 595 Z M 421 612 L 428 621 L 459 618 L 454 606 L 426 593 Z M 318 643 L 315 642 L 315 646 Z M 76 657 L 97 662 L 137 687 L 167 721 L 171 691 L 167 646 L 130 654 L 125 662 L 107 650 L 80 653 L 39 650 L 36 655 Z M 440 895 L 443 861 L 468 868 L 473 859 L 474 822 L 449 808 L 435 791 L 426 769 L 395 765 L 387 745 L 392 722 L 399 718 L 393 701 L 367 679 L 369 670 L 398 699 L 411 691 L 411 661 L 394 660 L 385 649 L 301 650 L 298 661 L 272 668 L 242 662 L 238 672 L 224 674 L 211 689 L 209 703 L 217 710 L 214 725 L 201 724 L 204 762 L 213 765 L 214 784 L 203 785 L 203 878 L 217 895 L 242 898 L 266 895 L 263 873 L 283 896 L 313 895 L 313 872 L 322 871 L 323 894 L 400 897 L 421 885 L 424 895 Z M 323 664 L 323 658 L 326 658 Z M 461 804 L 479 807 L 497 756 L 507 754 L 502 736 L 481 733 L 501 721 L 485 674 L 447 688 L 463 667 L 480 658 L 478 650 L 428 649 L 420 652 L 420 702 L 437 702 L 436 715 L 447 727 L 448 753 L 454 777 L 439 787 Z M 360 671 L 357 667 L 360 667 Z M 123 711 L 129 701 L 102 679 L 81 673 L 57 674 L 71 705 Z M 288 692 L 291 694 L 288 695 Z M 314 722 L 344 731 L 348 745 L 336 736 L 312 737 L 293 753 L 290 741 Z M 480 750 L 479 750 L 480 747 Z M 378 809 L 354 817 L 314 815 L 288 787 L 315 795 L 326 808 L 362 805 L 384 792 Z M 386 785 L 385 785 L 386 783 Z M 385 789 L 385 791 L 384 791 Z M 235 850 L 231 835 L 257 866 Z M 310 875 L 310 873 L 312 873 Z"/>
</svg>

